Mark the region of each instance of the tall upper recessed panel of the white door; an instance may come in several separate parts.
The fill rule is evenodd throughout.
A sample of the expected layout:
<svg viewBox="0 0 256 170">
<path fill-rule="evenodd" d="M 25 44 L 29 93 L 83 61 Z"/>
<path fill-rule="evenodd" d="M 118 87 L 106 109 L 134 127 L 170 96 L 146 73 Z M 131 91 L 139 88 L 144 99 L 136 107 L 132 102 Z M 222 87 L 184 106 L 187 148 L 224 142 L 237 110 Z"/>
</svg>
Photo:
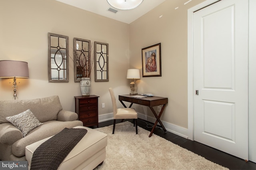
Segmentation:
<svg viewBox="0 0 256 170">
<path fill-rule="evenodd" d="M 234 40 L 233 16 L 234 6 L 202 16 L 204 88 L 234 86 L 234 44 L 227 43 Z"/>
</svg>

